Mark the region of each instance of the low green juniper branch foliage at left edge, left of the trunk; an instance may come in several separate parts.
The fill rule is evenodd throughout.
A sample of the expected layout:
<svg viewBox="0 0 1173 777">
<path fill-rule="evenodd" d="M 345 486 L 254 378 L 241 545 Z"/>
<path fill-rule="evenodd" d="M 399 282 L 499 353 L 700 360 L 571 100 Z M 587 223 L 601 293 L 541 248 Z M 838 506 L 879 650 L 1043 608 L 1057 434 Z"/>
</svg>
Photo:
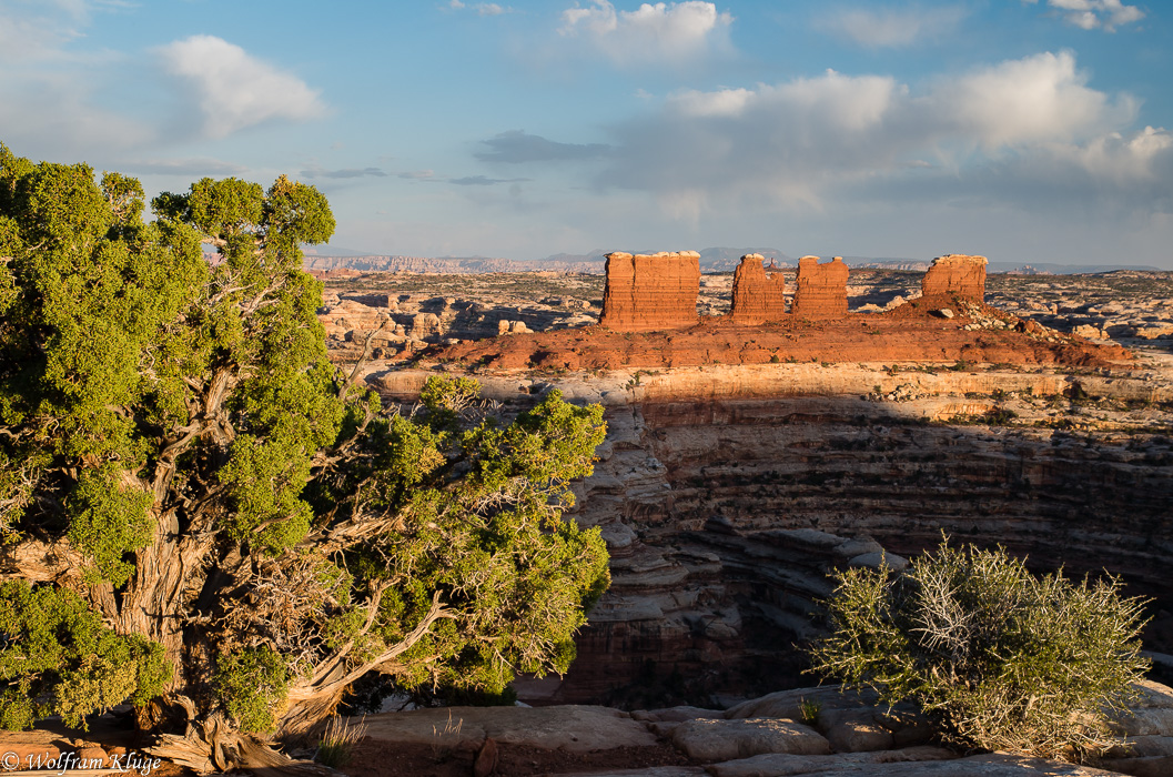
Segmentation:
<svg viewBox="0 0 1173 777">
<path fill-rule="evenodd" d="M 0 727 L 32 728 L 48 715 L 83 727 L 84 716 L 131 700 L 144 703 L 171 678 L 157 643 L 118 636 L 70 592 L 0 586 Z"/>
</svg>

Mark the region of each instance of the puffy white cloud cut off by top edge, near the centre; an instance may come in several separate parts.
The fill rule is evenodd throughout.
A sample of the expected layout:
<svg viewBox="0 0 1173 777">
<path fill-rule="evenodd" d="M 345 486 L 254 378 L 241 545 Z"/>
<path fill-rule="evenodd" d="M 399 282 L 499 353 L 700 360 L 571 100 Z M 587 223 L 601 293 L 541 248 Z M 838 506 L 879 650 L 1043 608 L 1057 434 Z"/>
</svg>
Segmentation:
<svg viewBox="0 0 1173 777">
<path fill-rule="evenodd" d="M 562 12 L 558 35 L 582 39 L 617 65 L 683 61 L 728 45 L 733 16 L 712 2 L 643 4 L 617 11 L 608 0 Z"/>
</svg>

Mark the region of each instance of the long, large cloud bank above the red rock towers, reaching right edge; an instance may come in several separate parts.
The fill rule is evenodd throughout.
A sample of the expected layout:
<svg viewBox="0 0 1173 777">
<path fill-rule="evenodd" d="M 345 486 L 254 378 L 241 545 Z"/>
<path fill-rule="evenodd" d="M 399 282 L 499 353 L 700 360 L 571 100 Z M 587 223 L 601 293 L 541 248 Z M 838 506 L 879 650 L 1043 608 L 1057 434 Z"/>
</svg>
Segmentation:
<svg viewBox="0 0 1173 777">
<path fill-rule="evenodd" d="M 1090 88 L 1069 53 L 1006 61 L 917 90 L 890 76 L 828 70 L 674 94 L 653 115 L 612 128 L 612 162 L 597 183 L 647 190 L 686 217 L 716 201 L 818 208 L 830 192 L 917 176 L 957 182 L 977 169 L 1056 180 L 1066 169 L 1073 180 L 1121 189 L 1130 181 L 1173 183 L 1173 140 L 1164 129 L 1133 133 L 1135 116 L 1133 99 Z"/>
</svg>

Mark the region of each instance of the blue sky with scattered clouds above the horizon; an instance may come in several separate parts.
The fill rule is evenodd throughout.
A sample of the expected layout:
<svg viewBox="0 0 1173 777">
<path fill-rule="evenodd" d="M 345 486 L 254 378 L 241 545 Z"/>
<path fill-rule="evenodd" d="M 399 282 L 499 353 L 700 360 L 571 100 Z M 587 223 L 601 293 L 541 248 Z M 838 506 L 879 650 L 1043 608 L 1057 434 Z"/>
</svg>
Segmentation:
<svg viewBox="0 0 1173 777">
<path fill-rule="evenodd" d="M 1173 4 L 0 0 L 0 142 L 328 246 L 1173 269 Z"/>
</svg>

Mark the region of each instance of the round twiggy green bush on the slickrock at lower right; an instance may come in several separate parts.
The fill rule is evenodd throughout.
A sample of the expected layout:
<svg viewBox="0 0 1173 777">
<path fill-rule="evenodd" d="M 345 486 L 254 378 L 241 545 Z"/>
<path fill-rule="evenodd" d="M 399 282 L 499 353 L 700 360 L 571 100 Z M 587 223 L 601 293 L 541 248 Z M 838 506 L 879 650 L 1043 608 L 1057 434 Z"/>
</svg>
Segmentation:
<svg viewBox="0 0 1173 777">
<path fill-rule="evenodd" d="M 989 750 L 1082 758 L 1113 741 L 1147 662 L 1141 602 L 1118 581 L 1036 577 L 1004 550 L 943 542 L 904 574 L 848 569 L 828 602 L 834 631 L 814 670 L 915 700 L 955 741 Z"/>
</svg>

